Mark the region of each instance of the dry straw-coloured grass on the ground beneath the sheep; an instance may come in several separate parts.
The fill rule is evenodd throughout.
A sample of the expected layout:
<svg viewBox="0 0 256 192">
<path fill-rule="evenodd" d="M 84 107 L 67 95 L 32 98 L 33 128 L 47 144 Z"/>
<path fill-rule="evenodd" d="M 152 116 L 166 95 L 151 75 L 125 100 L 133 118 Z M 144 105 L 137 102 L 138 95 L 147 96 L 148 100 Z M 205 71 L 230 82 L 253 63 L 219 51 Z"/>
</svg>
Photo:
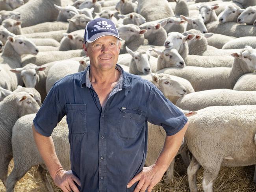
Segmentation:
<svg viewBox="0 0 256 192">
<path fill-rule="evenodd" d="M 13 162 L 9 166 L 9 172 L 13 167 Z M 176 157 L 174 167 L 175 178 L 166 185 L 163 180 L 155 186 L 153 192 L 189 192 L 186 167 L 184 166 L 180 156 Z M 252 178 L 254 174 L 254 166 L 221 168 L 219 176 L 214 183 L 213 190 L 215 192 L 256 192 Z M 198 170 L 197 187 L 198 192 L 202 192 L 202 175 L 203 168 Z M 48 176 L 50 177 L 50 175 Z M 52 181 L 52 180 L 51 180 Z M 53 183 L 54 192 L 61 192 Z M 0 182 L 0 192 L 4 192 L 5 187 Z M 37 168 L 33 167 L 15 186 L 15 192 L 47 192 L 43 183 L 37 175 Z"/>
</svg>

